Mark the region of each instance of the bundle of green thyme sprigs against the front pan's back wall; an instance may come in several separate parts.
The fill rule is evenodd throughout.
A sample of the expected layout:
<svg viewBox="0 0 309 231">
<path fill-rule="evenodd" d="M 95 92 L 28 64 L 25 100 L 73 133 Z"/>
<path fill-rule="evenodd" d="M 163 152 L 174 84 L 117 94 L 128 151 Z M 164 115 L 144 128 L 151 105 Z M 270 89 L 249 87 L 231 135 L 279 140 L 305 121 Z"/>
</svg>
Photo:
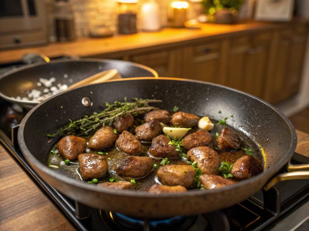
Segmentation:
<svg viewBox="0 0 309 231">
<path fill-rule="evenodd" d="M 137 99 L 133 98 L 133 102 L 127 102 L 125 98 L 124 102 L 115 101 L 113 104 L 105 103 L 106 109 L 99 113 L 94 112 L 92 115 L 85 115 L 79 120 L 69 120 L 69 123 L 53 134 L 46 135 L 53 138 L 56 136 L 66 135 L 89 135 L 95 132 L 104 125 L 111 126 L 113 122 L 117 121 L 119 117 L 125 115 L 139 115 L 148 111 L 156 109 L 156 107 L 149 106 L 149 103 L 162 102 L 157 99 Z"/>
</svg>

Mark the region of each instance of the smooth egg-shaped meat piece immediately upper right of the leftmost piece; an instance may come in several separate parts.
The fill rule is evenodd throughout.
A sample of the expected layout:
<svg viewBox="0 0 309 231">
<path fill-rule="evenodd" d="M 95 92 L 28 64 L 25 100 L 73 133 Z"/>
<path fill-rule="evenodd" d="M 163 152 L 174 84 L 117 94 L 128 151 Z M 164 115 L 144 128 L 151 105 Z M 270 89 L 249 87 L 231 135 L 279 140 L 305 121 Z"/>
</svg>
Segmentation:
<svg viewBox="0 0 309 231">
<path fill-rule="evenodd" d="M 104 126 L 96 131 L 90 138 L 88 146 L 95 151 L 100 151 L 112 146 L 117 140 L 117 137 L 117 134 L 114 133 L 114 129 Z"/>
</svg>

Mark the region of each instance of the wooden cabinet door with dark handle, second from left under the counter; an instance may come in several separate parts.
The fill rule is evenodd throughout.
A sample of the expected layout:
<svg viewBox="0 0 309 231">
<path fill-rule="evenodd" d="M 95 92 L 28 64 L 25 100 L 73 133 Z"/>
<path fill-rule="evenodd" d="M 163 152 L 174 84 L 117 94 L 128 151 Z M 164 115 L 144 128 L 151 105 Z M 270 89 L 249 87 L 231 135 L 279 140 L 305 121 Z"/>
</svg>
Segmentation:
<svg viewBox="0 0 309 231">
<path fill-rule="evenodd" d="M 185 47 L 181 57 L 184 66 L 184 72 L 181 75 L 183 78 L 223 83 L 220 69 L 222 63 L 221 42 L 198 43 Z"/>
</svg>

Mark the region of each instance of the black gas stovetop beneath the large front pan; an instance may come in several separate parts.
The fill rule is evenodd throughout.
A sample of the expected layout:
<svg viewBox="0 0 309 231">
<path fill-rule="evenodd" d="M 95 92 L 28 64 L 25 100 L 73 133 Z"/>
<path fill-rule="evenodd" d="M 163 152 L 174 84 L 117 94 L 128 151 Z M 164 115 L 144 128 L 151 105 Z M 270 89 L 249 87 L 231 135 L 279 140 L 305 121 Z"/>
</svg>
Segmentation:
<svg viewBox="0 0 309 231">
<path fill-rule="evenodd" d="M 20 166 L 79 230 L 308 230 L 309 180 L 277 183 L 268 192 L 254 196 L 230 208 L 191 217 L 149 220 L 128 217 L 116 211 L 89 208 L 59 193 L 45 183 L 23 157 L 17 144 L 18 124 L 26 111 L 17 112 L 11 103 L 0 99 L 0 143 Z M 292 164 L 309 163 L 309 158 L 294 153 Z M 284 172 L 282 169 L 280 172 Z"/>
</svg>

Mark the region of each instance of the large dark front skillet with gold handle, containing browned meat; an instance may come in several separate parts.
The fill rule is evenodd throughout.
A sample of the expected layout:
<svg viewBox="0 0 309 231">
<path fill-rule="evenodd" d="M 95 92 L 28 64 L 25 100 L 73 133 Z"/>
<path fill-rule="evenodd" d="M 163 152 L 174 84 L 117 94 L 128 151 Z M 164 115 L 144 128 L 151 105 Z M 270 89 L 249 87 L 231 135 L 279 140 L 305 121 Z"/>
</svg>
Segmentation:
<svg viewBox="0 0 309 231">
<path fill-rule="evenodd" d="M 46 137 L 69 119 L 78 119 L 101 111 L 104 102 L 124 97 L 163 99 L 157 106 L 220 120 L 218 110 L 234 114 L 228 123 L 254 140 L 263 153 L 265 171 L 250 179 L 213 190 L 189 190 L 186 193 L 153 195 L 147 192 L 116 191 L 67 178 L 45 164 L 50 148 L 57 142 Z M 93 103 L 86 107 L 82 99 Z M 230 122 L 230 121 L 228 121 Z M 135 217 L 171 217 L 193 215 L 222 209 L 243 201 L 261 188 L 268 190 L 280 180 L 308 178 L 309 171 L 277 172 L 289 162 L 297 137 L 291 122 L 275 107 L 244 92 L 217 84 L 173 78 L 133 78 L 89 85 L 56 95 L 34 107 L 19 127 L 18 143 L 34 170 L 66 196 L 91 207 Z M 308 166 L 300 166 L 305 170 Z M 289 165 L 289 170 L 295 167 Z"/>
</svg>

